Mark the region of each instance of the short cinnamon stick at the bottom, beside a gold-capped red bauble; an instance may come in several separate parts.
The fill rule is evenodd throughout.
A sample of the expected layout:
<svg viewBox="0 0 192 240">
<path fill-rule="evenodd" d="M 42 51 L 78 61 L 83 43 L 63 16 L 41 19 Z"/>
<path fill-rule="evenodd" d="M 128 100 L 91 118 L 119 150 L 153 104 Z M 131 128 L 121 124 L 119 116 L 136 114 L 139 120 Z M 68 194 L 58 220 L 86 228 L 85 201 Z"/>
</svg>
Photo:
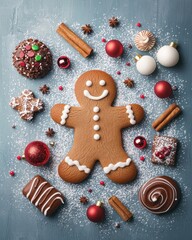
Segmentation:
<svg viewBox="0 0 192 240">
<path fill-rule="evenodd" d="M 116 197 L 112 196 L 108 200 L 111 207 L 119 214 L 123 221 L 128 221 L 133 217 L 133 214 L 129 211 L 125 205 Z"/>
</svg>

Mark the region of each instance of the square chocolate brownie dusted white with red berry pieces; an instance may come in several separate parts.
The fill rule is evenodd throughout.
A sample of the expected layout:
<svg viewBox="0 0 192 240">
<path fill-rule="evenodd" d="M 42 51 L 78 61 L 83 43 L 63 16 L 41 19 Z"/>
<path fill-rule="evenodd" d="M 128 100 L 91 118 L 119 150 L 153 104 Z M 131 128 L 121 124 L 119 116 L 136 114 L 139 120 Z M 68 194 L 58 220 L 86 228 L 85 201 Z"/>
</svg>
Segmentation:
<svg viewBox="0 0 192 240">
<path fill-rule="evenodd" d="M 168 136 L 155 136 L 152 146 L 152 163 L 175 165 L 177 139 Z"/>
</svg>

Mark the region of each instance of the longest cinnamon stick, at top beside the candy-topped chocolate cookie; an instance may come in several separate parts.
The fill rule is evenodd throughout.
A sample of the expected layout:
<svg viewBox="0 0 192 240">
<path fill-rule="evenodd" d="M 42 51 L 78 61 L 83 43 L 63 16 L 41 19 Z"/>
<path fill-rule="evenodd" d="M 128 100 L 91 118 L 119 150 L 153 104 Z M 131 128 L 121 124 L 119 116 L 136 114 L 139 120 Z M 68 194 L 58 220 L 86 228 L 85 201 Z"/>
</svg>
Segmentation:
<svg viewBox="0 0 192 240">
<path fill-rule="evenodd" d="M 93 49 L 64 23 L 58 26 L 57 33 L 71 44 L 83 57 L 86 58 L 92 53 Z"/>
</svg>

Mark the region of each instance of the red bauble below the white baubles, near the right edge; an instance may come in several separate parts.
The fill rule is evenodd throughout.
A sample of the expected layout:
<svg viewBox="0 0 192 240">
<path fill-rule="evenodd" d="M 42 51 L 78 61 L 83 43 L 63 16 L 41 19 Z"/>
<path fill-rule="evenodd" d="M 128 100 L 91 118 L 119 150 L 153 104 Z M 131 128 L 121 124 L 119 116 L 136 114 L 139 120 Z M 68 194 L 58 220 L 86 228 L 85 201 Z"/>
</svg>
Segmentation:
<svg viewBox="0 0 192 240">
<path fill-rule="evenodd" d="M 167 81 L 159 81 L 154 86 L 154 92 L 159 98 L 168 98 L 173 94 L 173 89 Z"/>
</svg>

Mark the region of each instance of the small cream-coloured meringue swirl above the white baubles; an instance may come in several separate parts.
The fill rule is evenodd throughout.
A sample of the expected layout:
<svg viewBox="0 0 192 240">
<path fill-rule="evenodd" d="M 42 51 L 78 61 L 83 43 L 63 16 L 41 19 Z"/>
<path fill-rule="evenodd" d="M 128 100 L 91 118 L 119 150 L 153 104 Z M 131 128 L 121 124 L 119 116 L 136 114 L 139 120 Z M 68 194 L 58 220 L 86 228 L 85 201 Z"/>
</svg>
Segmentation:
<svg viewBox="0 0 192 240">
<path fill-rule="evenodd" d="M 143 30 L 136 35 L 134 42 L 140 51 L 149 51 L 155 45 L 155 37 L 151 32 Z"/>
</svg>

